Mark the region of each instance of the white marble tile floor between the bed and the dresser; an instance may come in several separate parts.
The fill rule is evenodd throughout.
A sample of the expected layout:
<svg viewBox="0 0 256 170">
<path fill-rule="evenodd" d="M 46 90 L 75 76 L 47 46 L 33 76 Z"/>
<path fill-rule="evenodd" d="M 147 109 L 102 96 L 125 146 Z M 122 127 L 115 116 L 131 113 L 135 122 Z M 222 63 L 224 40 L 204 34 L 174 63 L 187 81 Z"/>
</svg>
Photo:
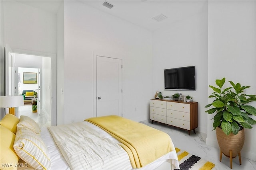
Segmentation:
<svg viewBox="0 0 256 170">
<path fill-rule="evenodd" d="M 191 131 L 189 136 L 188 131 L 176 127 L 171 127 L 169 125 L 164 125 L 155 121 L 153 124 L 151 122 L 152 121 L 150 120 L 145 120 L 141 121 L 140 123 L 144 123 L 150 127 L 154 127 L 158 130 L 164 131 L 165 133 L 170 135 L 175 147 L 186 150 L 191 154 L 200 156 L 202 159 L 214 163 L 214 169 L 230 170 L 229 158 L 223 155 L 222 162 L 220 162 L 220 149 L 206 145 L 206 134 L 199 133 L 197 131 L 196 134 L 194 134 L 194 132 Z M 232 166 L 233 170 L 256 170 L 256 162 L 248 158 L 244 158 L 243 156 L 242 165 L 239 165 L 239 159 L 238 156 L 236 156 L 236 158 L 233 158 Z"/>
</svg>

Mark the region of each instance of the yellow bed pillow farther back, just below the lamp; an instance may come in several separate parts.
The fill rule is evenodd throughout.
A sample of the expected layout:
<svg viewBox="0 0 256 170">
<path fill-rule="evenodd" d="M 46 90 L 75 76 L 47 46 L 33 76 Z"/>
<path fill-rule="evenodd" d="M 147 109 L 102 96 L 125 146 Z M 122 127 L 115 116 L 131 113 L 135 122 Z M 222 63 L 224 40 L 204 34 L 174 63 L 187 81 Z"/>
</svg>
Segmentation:
<svg viewBox="0 0 256 170">
<path fill-rule="evenodd" d="M 18 117 L 12 114 L 6 114 L 4 118 L 0 121 L 0 125 L 6 127 L 12 133 L 16 134 L 17 131 L 17 124 L 19 123 Z"/>
</svg>

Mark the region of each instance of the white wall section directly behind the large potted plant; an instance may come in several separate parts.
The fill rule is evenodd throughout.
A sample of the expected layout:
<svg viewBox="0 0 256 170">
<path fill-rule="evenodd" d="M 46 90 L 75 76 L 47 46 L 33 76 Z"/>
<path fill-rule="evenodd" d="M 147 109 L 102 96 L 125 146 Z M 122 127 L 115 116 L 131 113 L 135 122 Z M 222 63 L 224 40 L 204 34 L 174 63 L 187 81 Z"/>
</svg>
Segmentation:
<svg viewBox="0 0 256 170">
<path fill-rule="evenodd" d="M 208 11 L 208 84 L 215 85 L 216 79 L 226 77 L 226 81 L 251 86 L 245 93 L 255 94 L 255 1 L 209 1 Z M 226 86 L 229 85 L 227 82 Z M 211 93 L 212 90 L 208 88 L 208 95 Z M 208 99 L 208 103 L 211 102 Z M 251 105 L 256 106 L 255 102 Z M 208 115 L 206 143 L 218 145 L 211 118 L 212 115 Z M 245 129 L 241 154 L 256 160 L 256 125 L 253 127 Z"/>
</svg>

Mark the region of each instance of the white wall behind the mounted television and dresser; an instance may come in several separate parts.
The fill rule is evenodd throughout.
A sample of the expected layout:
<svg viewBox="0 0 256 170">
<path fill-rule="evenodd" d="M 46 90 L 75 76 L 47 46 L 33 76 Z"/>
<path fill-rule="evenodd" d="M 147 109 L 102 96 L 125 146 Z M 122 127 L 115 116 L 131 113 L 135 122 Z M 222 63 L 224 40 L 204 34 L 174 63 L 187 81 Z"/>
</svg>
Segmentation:
<svg viewBox="0 0 256 170">
<path fill-rule="evenodd" d="M 193 97 L 193 101 L 198 102 L 196 131 L 203 133 L 207 133 L 207 114 L 204 109 L 207 104 L 207 11 L 208 4 L 204 3 L 201 13 L 176 21 L 170 27 L 154 31 L 153 88 L 150 93 L 151 98 L 154 98 L 156 91 L 162 92 L 163 96 L 180 92 L 183 96 Z M 164 69 L 184 66 L 196 66 L 196 91 L 164 90 Z"/>
</svg>

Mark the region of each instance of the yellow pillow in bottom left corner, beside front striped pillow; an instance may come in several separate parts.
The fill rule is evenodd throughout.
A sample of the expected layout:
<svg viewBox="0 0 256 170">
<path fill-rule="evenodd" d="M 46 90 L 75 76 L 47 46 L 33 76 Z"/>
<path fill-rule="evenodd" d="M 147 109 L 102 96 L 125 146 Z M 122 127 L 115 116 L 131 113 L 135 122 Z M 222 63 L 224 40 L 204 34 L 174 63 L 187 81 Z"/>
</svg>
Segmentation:
<svg viewBox="0 0 256 170">
<path fill-rule="evenodd" d="M 0 169 L 16 170 L 20 158 L 13 149 L 15 135 L 2 125 L 0 125 L 0 132 Z"/>
</svg>

